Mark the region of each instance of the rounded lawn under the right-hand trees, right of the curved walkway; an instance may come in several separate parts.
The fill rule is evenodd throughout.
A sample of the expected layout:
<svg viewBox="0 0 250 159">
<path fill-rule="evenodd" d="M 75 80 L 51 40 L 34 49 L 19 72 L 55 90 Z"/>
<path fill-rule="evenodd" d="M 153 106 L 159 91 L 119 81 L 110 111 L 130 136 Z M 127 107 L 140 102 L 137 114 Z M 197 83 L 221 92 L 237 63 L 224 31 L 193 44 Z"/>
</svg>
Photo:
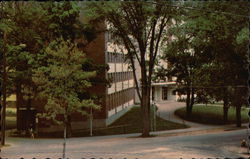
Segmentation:
<svg viewBox="0 0 250 159">
<path fill-rule="evenodd" d="M 228 123 L 236 123 L 236 112 L 234 107 L 230 107 L 228 110 Z M 242 123 L 248 122 L 248 111 L 247 108 L 242 108 L 241 110 L 241 121 Z M 194 105 L 192 110 L 192 115 L 190 117 L 186 116 L 186 108 L 180 108 L 175 111 L 175 114 L 185 120 L 193 121 L 203 124 L 213 124 L 213 125 L 223 125 L 223 107 L 213 106 L 211 104 L 207 106 L 197 106 Z"/>
</svg>

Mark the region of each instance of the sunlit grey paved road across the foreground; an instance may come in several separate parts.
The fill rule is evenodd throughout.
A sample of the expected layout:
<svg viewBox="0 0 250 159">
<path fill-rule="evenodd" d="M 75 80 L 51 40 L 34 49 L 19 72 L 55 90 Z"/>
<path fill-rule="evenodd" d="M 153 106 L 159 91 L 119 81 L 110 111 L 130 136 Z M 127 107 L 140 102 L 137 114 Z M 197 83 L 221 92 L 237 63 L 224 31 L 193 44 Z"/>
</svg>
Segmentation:
<svg viewBox="0 0 250 159">
<path fill-rule="evenodd" d="M 201 135 L 137 138 L 135 135 L 67 139 L 66 156 L 70 159 L 163 159 L 163 158 L 238 158 L 247 157 L 240 148 L 246 130 L 215 132 Z M 60 158 L 62 139 L 7 138 L 2 158 Z"/>
</svg>

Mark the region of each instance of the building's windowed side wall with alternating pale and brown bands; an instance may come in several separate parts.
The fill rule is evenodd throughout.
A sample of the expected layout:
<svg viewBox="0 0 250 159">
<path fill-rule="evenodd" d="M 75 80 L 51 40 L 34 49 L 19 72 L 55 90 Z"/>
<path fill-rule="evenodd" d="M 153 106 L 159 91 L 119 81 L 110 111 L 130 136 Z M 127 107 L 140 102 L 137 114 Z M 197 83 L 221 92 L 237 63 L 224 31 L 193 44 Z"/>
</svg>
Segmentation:
<svg viewBox="0 0 250 159">
<path fill-rule="evenodd" d="M 108 33 L 106 33 L 108 34 Z M 110 37 L 110 36 L 107 36 Z M 111 123 L 134 105 L 135 89 L 133 72 L 125 60 L 126 51 L 107 38 L 107 76 L 111 86 L 107 92 L 108 121 Z"/>
</svg>

